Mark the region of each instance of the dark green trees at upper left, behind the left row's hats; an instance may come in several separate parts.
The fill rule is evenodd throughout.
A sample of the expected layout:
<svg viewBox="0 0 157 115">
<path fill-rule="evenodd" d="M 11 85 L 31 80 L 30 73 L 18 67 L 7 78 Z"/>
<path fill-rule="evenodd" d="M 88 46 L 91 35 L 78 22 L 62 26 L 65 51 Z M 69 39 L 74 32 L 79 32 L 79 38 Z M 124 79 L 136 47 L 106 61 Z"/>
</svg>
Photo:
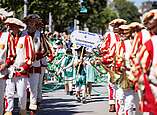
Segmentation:
<svg viewBox="0 0 157 115">
<path fill-rule="evenodd" d="M 23 18 L 24 0 L 3 0 L 1 7 L 15 11 L 15 17 Z M 52 12 L 55 29 L 64 31 L 79 15 L 78 0 L 28 0 L 28 13 L 36 13 L 48 22 L 48 13 Z"/>
</svg>

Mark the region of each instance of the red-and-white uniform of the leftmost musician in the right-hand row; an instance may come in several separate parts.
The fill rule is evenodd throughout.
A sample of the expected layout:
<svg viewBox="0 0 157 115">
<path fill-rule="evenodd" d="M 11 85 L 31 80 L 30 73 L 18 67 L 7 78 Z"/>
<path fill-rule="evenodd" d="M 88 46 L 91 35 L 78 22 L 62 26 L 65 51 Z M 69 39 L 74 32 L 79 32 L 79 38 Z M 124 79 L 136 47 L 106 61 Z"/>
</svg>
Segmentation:
<svg viewBox="0 0 157 115">
<path fill-rule="evenodd" d="M 114 65 L 114 56 L 116 51 L 116 43 L 119 41 L 119 36 L 114 32 L 105 34 L 105 41 L 102 43 L 100 53 L 103 57 L 102 62 L 105 65 Z M 109 75 L 109 74 L 108 74 Z M 109 104 L 115 104 L 115 86 L 109 80 Z"/>
</svg>

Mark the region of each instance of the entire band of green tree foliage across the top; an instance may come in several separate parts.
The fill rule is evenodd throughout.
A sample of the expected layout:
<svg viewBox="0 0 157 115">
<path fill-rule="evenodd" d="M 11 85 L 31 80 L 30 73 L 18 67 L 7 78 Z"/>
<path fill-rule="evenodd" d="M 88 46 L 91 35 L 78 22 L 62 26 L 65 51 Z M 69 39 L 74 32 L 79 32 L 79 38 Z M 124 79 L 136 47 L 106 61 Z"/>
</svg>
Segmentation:
<svg viewBox="0 0 157 115">
<path fill-rule="evenodd" d="M 48 14 L 52 13 L 55 30 L 64 31 L 78 19 L 80 26 L 86 23 L 91 32 L 105 31 L 108 23 L 117 18 L 124 18 L 129 22 L 139 21 L 136 6 L 127 0 L 114 0 L 115 9 L 107 6 L 107 0 L 84 0 L 88 12 L 80 13 L 80 0 L 27 0 L 28 14 L 37 13 L 48 23 Z M 1 7 L 15 11 L 15 17 L 23 18 L 24 0 L 2 0 Z"/>
</svg>

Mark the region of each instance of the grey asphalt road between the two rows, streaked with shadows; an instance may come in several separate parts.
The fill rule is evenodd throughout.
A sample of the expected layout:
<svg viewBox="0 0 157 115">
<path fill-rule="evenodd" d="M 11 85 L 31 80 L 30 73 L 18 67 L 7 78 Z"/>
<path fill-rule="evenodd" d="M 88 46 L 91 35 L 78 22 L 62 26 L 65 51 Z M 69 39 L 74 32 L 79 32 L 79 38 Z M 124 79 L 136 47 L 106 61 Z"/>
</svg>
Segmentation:
<svg viewBox="0 0 157 115">
<path fill-rule="evenodd" d="M 75 96 L 66 95 L 64 89 L 43 93 L 43 102 L 38 115 L 115 115 L 108 112 L 105 85 L 94 85 L 92 100 L 78 103 Z"/>
</svg>

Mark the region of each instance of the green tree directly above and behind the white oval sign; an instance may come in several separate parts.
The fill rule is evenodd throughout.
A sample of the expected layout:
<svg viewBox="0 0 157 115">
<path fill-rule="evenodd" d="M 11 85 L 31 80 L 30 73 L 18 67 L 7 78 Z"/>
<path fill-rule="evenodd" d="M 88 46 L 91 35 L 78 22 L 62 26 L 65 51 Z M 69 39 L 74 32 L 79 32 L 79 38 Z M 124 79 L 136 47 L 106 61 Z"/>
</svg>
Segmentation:
<svg viewBox="0 0 157 115">
<path fill-rule="evenodd" d="M 80 14 L 80 23 L 86 23 L 91 32 L 104 33 L 108 23 L 117 18 L 117 14 L 111 7 L 107 7 L 105 0 L 88 0 L 87 14 Z M 83 26 L 83 25 L 82 25 Z"/>
</svg>

